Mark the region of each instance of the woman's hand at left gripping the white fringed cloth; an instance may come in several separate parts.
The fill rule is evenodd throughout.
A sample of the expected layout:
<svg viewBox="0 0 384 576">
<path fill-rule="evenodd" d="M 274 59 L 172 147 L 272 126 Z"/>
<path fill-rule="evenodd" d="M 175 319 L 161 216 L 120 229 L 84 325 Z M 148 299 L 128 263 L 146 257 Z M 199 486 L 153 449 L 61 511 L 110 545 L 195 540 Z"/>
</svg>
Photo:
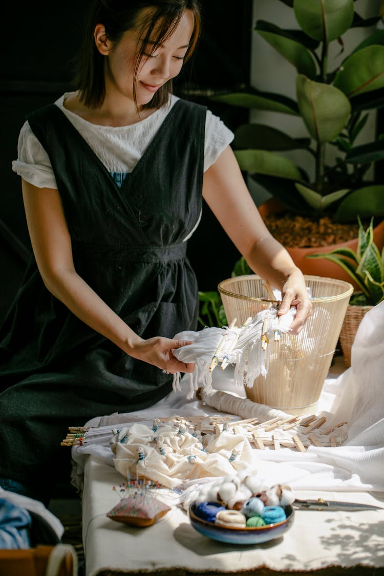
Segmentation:
<svg viewBox="0 0 384 576">
<path fill-rule="evenodd" d="M 172 353 L 172 350 L 188 346 L 188 344 L 192 344 L 192 341 L 172 340 L 162 336 L 154 336 L 154 338 L 140 340 L 135 343 L 128 354 L 132 358 L 157 366 L 169 374 L 174 374 L 175 372 L 192 373 L 195 364 L 192 362 L 180 362 Z"/>
</svg>

